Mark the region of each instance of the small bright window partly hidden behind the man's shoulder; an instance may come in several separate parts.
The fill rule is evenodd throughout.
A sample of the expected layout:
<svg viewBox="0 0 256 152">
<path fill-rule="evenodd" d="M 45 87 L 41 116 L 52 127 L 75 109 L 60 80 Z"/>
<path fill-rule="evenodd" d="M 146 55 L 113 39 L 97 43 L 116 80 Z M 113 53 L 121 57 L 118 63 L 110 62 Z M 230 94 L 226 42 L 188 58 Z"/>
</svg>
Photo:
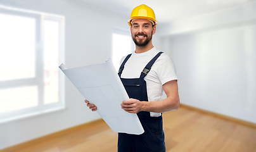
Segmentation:
<svg viewBox="0 0 256 152">
<path fill-rule="evenodd" d="M 131 33 L 124 30 L 113 30 L 112 34 L 112 63 L 119 70 L 120 60 L 134 51 Z"/>
</svg>

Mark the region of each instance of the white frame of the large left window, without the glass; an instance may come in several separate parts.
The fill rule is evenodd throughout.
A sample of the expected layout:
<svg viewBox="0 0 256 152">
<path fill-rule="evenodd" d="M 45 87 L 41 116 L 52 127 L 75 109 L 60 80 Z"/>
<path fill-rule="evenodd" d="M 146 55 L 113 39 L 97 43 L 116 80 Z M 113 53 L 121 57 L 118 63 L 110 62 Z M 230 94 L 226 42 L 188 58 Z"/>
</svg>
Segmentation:
<svg viewBox="0 0 256 152">
<path fill-rule="evenodd" d="M 65 50 L 65 17 L 61 15 L 53 15 L 49 13 L 42 13 L 38 11 L 30 11 L 19 8 L 11 8 L 8 6 L 0 5 L 0 13 L 7 15 L 17 15 L 35 18 L 35 77 L 26 79 L 15 79 L 0 81 L 0 89 L 8 89 L 15 87 L 25 87 L 37 85 L 38 87 L 38 105 L 30 108 L 23 108 L 20 110 L 6 111 L 0 113 L 0 124 L 4 122 L 10 122 L 20 118 L 32 117 L 35 115 L 41 115 L 49 113 L 51 111 L 58 111 L 65 109 L 64 99 L 64 76 L 58 70 L 59 80 L 59 101 L 56 103 L 49 103 L 45 105 L 44 102 L 44 20 L 53 20 L 59 22 L 59 59 L 58 64 L 64 62 L 64 50 Z"/>
</svg>

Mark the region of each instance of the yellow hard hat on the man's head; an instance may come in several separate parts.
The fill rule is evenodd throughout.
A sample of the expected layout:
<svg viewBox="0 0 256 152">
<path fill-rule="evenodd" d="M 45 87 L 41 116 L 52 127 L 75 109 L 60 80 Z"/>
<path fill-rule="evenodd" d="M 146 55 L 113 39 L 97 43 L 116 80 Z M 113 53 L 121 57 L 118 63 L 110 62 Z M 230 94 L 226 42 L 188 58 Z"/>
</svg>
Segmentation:
<svg viewBox="0 0 256 152">
<path fill-rule="evenodd" d="M 157 26 L 157 20 L 155 19 L 155 13 L 152 8 L 141 4 L 132 10 L 131 17 L 128 19 L 128 24 L 132 26 L 132 20 L 136 18 L 143 18 L 152 21 L 152 23 Z"/>
</svg>

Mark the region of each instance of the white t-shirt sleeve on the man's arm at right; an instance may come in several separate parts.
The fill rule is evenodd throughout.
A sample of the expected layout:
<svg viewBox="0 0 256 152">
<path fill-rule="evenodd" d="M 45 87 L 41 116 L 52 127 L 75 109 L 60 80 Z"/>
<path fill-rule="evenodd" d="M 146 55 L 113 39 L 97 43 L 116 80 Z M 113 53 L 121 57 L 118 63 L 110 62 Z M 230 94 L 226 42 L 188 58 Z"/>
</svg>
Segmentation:
<svg viewBox="0 0 256 152">
<path fill-rule="evenodd" d="M 176 68 L 170 56 L 161 54 L 159 64 L 157 73 L 162 85 L 170 80 L 177 80 Z"/>
</svg>

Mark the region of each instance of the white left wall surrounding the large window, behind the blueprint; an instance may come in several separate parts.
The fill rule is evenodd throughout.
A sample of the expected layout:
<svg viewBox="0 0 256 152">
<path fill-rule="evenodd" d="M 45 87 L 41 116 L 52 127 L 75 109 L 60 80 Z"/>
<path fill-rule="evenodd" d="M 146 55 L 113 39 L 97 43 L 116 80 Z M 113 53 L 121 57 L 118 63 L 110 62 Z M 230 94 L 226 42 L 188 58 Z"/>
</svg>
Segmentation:
<svg viewBox="0 0 256 152">
<path fill-rule="evenodd" d="M 6 0 L 0 4 L 65 16 L 68 68 L 103 63 L 112 56 L 112 29 L 129 30 L 127 16 L 114 15 L 79 1 Z M 67 78 L 65 103 L 67 108 L 62 111 L 0 124 L 0 149 L 100 118 L 87 108 L 84 98 Z"/>
</svg>

